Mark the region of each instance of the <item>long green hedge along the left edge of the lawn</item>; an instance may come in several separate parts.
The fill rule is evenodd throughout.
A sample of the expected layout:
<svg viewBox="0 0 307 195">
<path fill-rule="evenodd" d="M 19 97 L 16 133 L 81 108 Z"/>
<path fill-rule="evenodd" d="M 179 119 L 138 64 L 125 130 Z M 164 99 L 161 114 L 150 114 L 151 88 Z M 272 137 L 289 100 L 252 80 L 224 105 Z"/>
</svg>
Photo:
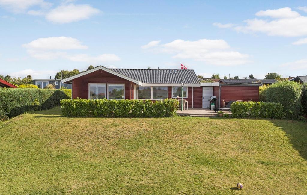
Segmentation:
<svg viewBox="0 0 307 195">
<path fill-rule="evenodd" d="M 28 111 L 50 109 L 70 98 L 62 90 L 31 88 L 0 88 L 0 120 Z"/>
</svg>

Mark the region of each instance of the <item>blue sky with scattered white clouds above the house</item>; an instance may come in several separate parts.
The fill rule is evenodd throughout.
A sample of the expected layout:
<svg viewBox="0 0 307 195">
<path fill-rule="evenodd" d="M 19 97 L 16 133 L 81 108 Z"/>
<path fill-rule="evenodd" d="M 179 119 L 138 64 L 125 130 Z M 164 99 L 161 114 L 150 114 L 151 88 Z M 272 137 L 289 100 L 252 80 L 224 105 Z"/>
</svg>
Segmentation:
<svg viewBox="0 0 307 195">
<path fill-rule="evenodd" d="M 305 1 L 0 0 L 0 74 L 89 65 L 307 75 Z"/>
</svg>

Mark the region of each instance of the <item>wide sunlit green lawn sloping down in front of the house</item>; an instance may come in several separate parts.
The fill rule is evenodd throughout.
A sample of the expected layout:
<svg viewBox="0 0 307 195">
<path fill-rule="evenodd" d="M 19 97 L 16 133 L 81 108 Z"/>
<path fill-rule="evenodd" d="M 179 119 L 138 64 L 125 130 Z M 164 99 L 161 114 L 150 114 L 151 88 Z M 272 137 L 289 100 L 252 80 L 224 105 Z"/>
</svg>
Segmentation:
<svg viewBox="0 0 307 195">
<path fill-rule="evenodd" d="M 0 194 L 307 193 L 303 122 L 65 118 L 55 108 L 0 123 L 0 143 Z"/>
</svg>

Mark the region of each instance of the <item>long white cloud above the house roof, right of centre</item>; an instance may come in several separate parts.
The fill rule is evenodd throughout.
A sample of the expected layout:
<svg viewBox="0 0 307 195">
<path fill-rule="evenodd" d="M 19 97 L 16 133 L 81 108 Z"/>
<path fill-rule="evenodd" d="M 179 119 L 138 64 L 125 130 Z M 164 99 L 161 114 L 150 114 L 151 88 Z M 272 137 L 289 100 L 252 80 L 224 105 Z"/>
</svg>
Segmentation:
<svg viewBox="0 0 307 195">
<path fill-rule="evenodd" d="M 185 41 L 181 39 L 160 44 L 155 50 L 173 54 L 174 59 L 194 59 L 214 65 L 239 65 L 249 62 L 248 54 L 232 51 L 226 41 L 200 39 Z"/>
</svg>

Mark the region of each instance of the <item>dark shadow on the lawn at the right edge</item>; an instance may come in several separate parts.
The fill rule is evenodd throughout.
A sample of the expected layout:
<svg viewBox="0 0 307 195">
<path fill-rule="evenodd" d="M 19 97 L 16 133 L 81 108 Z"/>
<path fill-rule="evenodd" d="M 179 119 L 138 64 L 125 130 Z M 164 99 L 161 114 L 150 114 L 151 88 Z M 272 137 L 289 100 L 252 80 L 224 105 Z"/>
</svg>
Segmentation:
<svg viewBox="0 0 307 195">
<path fill-rule="evenodd" d="M 301 122 L 301 125 L 293 125 L 288 120 L 270 120 L 275 126 L 286 132 L 292 146 L 299 152 L 301 157 L 307 160 L 307 123 Z"/>
</svg>

